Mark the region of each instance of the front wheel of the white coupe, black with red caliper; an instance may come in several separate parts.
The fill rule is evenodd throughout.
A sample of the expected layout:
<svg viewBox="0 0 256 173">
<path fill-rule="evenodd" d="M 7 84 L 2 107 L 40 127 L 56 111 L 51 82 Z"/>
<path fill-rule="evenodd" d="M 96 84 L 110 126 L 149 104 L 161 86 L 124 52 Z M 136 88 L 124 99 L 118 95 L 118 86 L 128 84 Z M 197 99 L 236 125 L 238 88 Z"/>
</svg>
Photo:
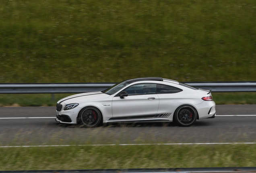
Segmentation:
<svg viewBox="0 0 256 173">
<path fill-rule="evenodd" d="M 83 108 L 78 117 L 81 117 L 81 121 L 86 127 L 97 127 L 102 119 L 101 112 L 95 107 Z"/>
</svg>

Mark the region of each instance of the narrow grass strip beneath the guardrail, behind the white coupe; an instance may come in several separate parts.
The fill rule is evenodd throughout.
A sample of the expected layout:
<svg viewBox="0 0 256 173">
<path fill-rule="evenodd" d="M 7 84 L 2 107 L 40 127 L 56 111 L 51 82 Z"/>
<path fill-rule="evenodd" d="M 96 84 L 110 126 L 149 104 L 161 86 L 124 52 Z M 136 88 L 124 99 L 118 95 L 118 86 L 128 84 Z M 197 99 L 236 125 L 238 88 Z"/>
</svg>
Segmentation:
<svg viewBox="0 0 256 173">
<path fill-rule="evenodd" d="M 55 106 L 72 94 L 1 94 L 0 106 Z M 256 104 L 256 93 L 212 93 L 217 105 Z"/>
</svg>

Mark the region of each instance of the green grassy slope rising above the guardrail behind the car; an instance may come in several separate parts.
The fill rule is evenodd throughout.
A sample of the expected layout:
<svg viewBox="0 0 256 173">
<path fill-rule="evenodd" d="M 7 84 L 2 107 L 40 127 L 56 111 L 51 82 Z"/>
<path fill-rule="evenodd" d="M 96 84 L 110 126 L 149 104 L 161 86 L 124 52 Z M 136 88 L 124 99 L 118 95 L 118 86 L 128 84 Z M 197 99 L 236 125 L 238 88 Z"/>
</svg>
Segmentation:
<svg viewBox="0 0 256 173">
<path fill-rule="evenodd" d="M 256 74 L 255 0 L 1 0 L 0 82 Z"/>
</svg>

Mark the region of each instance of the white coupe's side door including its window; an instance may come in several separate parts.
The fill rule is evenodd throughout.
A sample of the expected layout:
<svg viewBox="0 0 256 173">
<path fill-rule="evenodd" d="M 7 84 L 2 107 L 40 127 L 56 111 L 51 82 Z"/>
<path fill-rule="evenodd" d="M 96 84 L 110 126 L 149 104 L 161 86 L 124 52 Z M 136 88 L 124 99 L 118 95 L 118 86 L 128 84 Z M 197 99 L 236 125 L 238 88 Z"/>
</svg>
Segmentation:
<svg viewBox="0 0 256 173">
<path fill-rule="evenodd" d="M 134 84 L 123 91 L 127 97 L 121 99 L 118 95 L 112 100 L 113 117 L 123 119 L 143 119 L 156 115 L 159 106 L 159 97 L 156 94 L 157 84 Z M 136 117 L 133 117 L 136 116 Z"/>
</svg>

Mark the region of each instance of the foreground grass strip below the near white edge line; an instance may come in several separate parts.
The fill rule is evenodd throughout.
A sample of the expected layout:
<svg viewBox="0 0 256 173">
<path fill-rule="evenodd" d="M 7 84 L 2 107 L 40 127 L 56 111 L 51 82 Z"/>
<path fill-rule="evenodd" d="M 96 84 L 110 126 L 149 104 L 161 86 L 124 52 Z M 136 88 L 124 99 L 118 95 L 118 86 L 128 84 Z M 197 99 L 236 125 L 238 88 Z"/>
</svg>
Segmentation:
<svg viewBox="0 0 256 173">
<path fill-rule="evenodd" d="M 0 148 L 0 170 L 255 167 L 256 145 Z"/>
</svg>

